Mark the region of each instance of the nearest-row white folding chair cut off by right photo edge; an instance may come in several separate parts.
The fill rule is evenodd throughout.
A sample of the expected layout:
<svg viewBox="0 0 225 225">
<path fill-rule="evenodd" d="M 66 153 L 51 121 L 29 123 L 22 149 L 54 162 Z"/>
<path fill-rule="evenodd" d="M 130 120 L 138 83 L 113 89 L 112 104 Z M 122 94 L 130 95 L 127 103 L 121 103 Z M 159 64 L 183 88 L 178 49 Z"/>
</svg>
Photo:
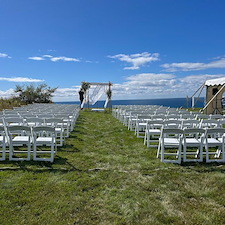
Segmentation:
<svg viewBox="0 0 225 225">
<path fill-rule="evenodd" d="M 225 162 L 225 128 L 209 128 L 205 132 L 206 162 Z"/>
</svg>

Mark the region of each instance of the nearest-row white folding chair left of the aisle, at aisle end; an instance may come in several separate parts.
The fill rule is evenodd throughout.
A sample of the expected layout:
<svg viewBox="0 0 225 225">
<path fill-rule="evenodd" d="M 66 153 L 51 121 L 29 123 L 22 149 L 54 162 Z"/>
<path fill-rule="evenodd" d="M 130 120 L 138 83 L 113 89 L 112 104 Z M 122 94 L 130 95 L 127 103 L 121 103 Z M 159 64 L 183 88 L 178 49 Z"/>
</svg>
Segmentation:
<svg viewBox="0 0 225 225">
<path fill-rule="evenodd" d="M 38 146 L 42 147 L 38 148 Z M 46 147 L 43 148 L 43 146 Z M 48 126 L 33 127 L 33 159 L 53 162 L 56 151 L 55 128 Z M 44 155 L 44 157 L 41 157 L 41 155 Z M 50 156 L 47 157 L 47 155 Z"/>
</svg>

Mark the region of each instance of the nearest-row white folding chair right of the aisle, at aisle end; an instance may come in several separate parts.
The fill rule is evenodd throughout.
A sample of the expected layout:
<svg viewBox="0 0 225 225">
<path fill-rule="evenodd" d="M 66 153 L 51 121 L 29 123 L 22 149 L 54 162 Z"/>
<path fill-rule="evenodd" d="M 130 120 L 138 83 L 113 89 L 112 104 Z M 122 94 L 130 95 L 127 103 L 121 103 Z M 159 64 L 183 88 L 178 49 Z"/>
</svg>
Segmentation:
<svg viewBox="0 0 225 225">
<path fill-rule="evenodd" d="M 161 162 L 181 163 L 183 134 L 179 128 L 162 128 L 157 152 Z"/>
</svg>

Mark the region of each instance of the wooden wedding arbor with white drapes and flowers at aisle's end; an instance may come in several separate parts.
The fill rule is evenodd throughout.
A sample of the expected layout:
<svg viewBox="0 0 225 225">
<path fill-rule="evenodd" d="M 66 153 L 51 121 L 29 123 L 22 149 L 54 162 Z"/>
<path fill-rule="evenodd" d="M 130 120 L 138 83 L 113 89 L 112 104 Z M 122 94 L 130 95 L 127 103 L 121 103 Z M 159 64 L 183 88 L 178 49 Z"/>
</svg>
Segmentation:
<svg viewBox="0 0 225 225">
<path fill-rule="evenodd" d="M 88 108 L 90 106 L 90 93 L 89 93 L 89 88 L 91 86 L 96 86 L 96 87 L 101 87 L 101 86 L 108 86 L 108 90 L 106 91 L 106 95 L 107 95 L 107 100 L 106 100 L 106 103 L 105 103 L 105 108 L 107 106 L 107 104 L 110 105 L 110 107 L 112 106 L 111 105 L 111 100 L 112 100 L 112 86 L 113 84 L 111 82 L 108 82 L 108 83 L 98 83 L 98 82 L 85 82 L 83 81 L 81 83 L 81 88 L 84 90 L 84 95 L 85 95 L 85 98 L 84 98 L 84 102 L 82 103 L 82 105 L 84 105 L 84 103 L 87 103 L 88 104 Z M 98 94 L 98 91 L 93 92 L 93 95 L 97 95 Z"/>
</svg>

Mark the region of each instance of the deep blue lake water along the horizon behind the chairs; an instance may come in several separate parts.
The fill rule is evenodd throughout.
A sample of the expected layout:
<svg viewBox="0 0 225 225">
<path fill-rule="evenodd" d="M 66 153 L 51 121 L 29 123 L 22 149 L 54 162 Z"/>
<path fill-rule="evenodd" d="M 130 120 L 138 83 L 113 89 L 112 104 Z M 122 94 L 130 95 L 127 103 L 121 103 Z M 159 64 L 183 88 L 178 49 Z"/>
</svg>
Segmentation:
<svg viewBox="0 0 225 225">
<path fill-rule="evenodd" d="M 55 102 L 56 104 L 80 104 L 79 101 L 72 102 Z M 103 108 L 105 101 L 98 101 L 94 105 L 90 105 L 91 108 Z M 135 99 L 135 100 L 112 100 L 112 105 L 162 105 L 173 108 L 190 108 L 191 99 L 186 98 L 166 98 L 166 99 Z M 85 106 L 86 107 L 86 106 Z M 204 107 L 204 98 L 199 98 L 195 108 Z"/>
</svg>

